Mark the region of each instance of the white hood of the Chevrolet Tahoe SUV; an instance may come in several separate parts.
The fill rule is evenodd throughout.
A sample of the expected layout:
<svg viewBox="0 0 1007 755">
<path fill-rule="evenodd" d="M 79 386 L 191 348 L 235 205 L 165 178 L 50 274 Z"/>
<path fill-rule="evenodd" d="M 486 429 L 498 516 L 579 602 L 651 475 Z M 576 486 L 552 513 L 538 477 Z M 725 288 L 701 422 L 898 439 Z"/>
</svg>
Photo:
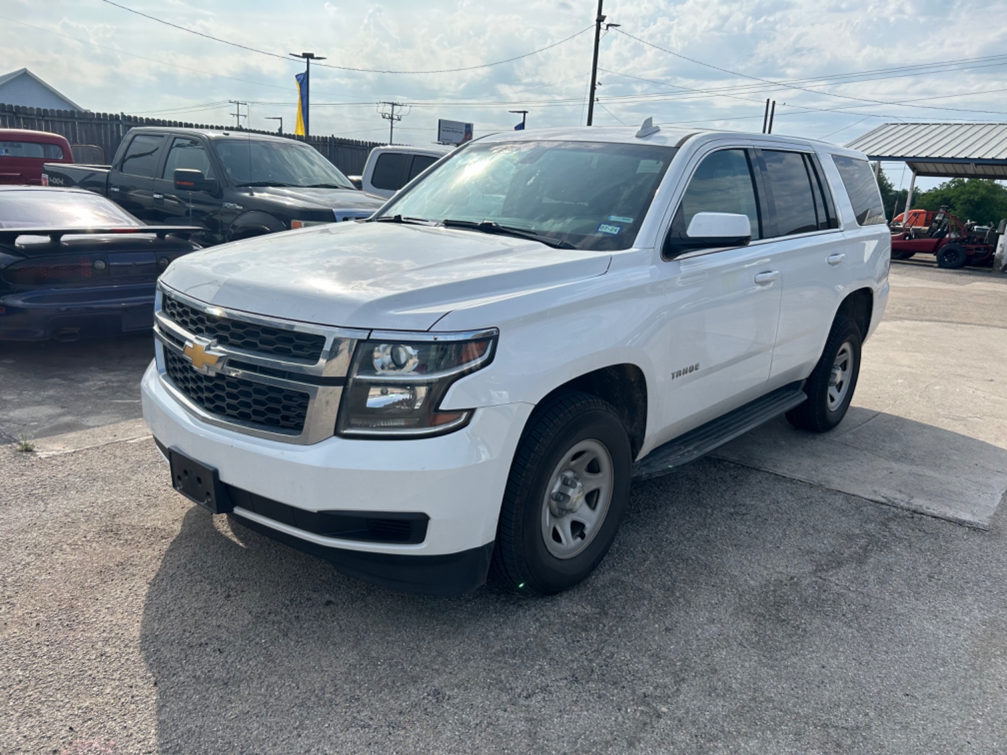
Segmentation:
<svg viewBox="0 0 1007 755">
<path fill-rule="evenodd" d="M 462 306 L 603 275 L 610 260 L 602 252 L 472 231 L 342 222 L 186 255 L 161 281 L 208 304 L 256 314 L 428 330 Z"/>
</svg>

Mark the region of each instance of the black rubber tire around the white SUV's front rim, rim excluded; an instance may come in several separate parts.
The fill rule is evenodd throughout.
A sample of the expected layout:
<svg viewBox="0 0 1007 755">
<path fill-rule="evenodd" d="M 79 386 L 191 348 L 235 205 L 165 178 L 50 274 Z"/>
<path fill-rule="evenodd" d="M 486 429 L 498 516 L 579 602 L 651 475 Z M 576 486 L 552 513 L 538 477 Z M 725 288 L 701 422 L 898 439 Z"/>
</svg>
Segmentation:
<svg viewBox="0 0 1007 755">
<path fill-rule="evenodd" d="M 557 465 L 583 441 L 596 441 L 607 450 L 611 497 L 583 551 L 560 559 L 550 553 L 543 535 L 546 494 Z M 511 464 L 490 567 L 493 580 L 520 592 L 552 595 L 585 579 L 615 540 L 629 498 L 631 466 L 629 438 L 607 402 L 571 392 L 538 407 Z"/>
</svg>

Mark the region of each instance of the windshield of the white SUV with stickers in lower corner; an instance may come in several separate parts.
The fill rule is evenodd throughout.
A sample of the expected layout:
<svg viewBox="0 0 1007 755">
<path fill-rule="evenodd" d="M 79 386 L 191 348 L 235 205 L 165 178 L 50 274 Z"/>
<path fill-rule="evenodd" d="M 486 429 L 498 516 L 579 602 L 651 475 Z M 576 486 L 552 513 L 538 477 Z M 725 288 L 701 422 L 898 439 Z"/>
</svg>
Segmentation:
<svg viewBox="0 0 1007 755">
<path fill-rule="evenodd" d="M 628 249 L 677 151 L 605 142 L 472 144 L 382 215 L 487 220 L 578 249 Z"/>
</svg>

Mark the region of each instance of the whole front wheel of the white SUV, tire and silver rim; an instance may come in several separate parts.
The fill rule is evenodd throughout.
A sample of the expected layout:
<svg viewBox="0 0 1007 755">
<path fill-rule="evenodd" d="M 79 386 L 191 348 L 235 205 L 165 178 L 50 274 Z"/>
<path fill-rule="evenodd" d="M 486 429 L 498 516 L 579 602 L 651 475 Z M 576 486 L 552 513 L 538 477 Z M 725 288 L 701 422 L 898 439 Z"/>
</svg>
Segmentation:
<svg viewBox="0 0 1007 755">
<path fill-rule="evenodd" d="M 569 393 L 537 409 L 511 465 L 494 578 L 542 595 L 585 579 L 615 540 L 631 463 L 629 438 L 607 402 Z"/>
</svg>

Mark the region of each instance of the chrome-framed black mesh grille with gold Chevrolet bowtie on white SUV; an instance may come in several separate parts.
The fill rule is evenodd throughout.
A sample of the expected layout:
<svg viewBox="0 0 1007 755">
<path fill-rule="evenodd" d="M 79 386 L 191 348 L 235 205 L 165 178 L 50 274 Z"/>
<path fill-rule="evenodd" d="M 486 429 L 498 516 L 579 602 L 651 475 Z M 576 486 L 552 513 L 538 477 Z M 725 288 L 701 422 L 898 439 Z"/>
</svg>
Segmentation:
<svg viewBox="0 0 1007 755">
<path fill-rule="evenodd" d="M 157 368 L 171 396 L 207 424 L 286 443 L 335 432 L 367 335 L 217 307 L 163 284 L 154 305 Z"/>
</svg>

